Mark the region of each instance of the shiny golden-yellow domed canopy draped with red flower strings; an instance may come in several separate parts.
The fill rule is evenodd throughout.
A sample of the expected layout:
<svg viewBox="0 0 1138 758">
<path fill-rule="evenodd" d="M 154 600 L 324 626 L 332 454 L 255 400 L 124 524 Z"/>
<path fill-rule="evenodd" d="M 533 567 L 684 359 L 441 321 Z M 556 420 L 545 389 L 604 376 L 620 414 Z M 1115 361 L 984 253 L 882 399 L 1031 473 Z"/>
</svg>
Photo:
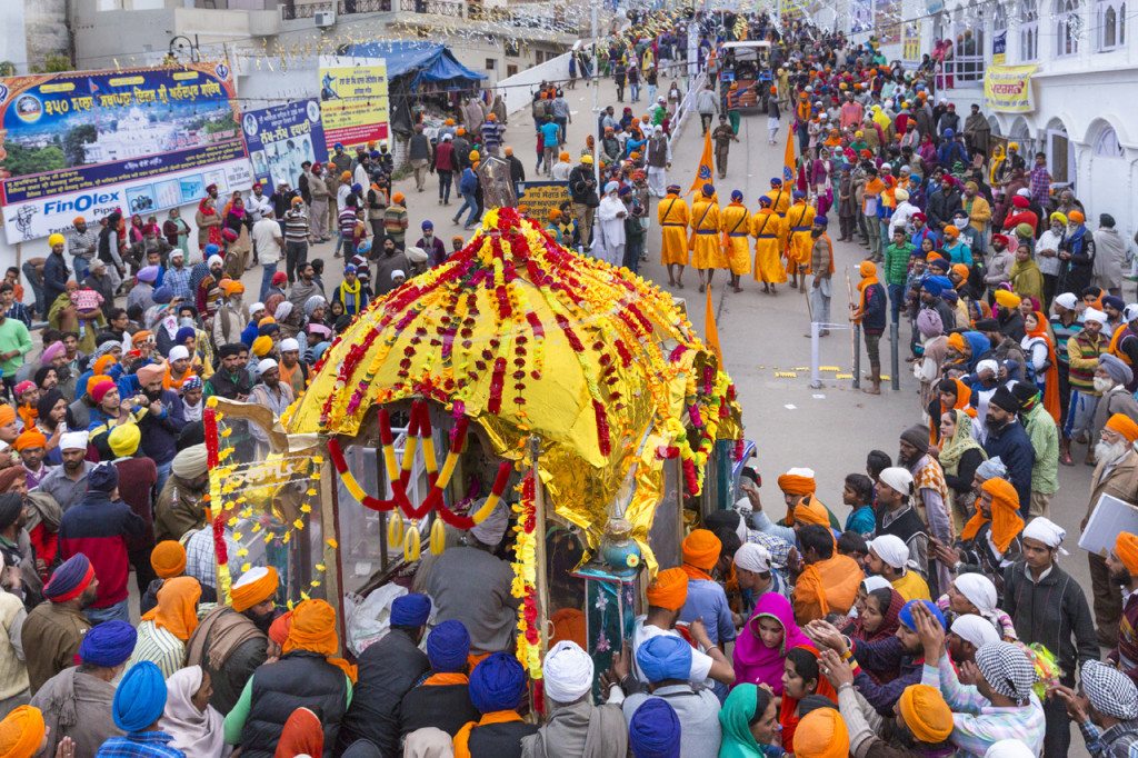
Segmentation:
<svg viewBox="0 0 1138 758">
<path fill-rule="evenodd" d="M 635 479 L 621 505 L 646 547 L 661 459 L 685 459 L 691 492 L 714 440 L 741 432 L 729 380 L 670 295 L 558 246 L 511 208 L 488 213 L 460 253 L 372 303 L 283 423 L 352 436 L 373 405 L 411 397 L 465 413 L 503 458 L 539 436 L 555 511 L 593 545 Z"/>
</svg>

